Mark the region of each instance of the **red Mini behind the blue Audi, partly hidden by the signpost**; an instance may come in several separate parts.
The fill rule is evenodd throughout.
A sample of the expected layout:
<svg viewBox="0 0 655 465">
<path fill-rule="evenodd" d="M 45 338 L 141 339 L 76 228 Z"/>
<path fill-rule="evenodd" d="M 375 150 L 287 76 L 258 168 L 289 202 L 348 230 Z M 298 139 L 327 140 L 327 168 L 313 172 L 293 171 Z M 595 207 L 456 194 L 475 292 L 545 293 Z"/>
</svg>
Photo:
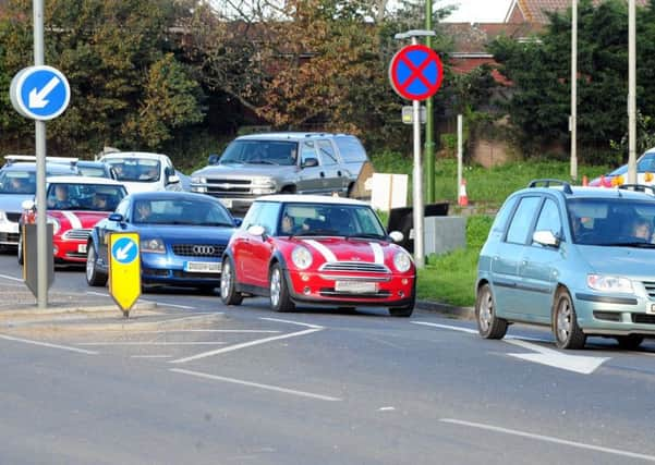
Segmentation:
<svg viewBox="0 0 655 465">
<path fill-rule="evenodd" d="M 59 264 L 85 264 L 88 235 L 128 195 L 118 181 L 104 178 L 56 176 L 47 180 L 48 222 L 52 223 L 52 248 Z M 24 203 L 22 224 L 36 222 L 38 207 Z M 21 228 L 22 234 L 22 228 Z M 23 241 L 19 241 L 19 264 L 23 264 Z"/>
</svg>

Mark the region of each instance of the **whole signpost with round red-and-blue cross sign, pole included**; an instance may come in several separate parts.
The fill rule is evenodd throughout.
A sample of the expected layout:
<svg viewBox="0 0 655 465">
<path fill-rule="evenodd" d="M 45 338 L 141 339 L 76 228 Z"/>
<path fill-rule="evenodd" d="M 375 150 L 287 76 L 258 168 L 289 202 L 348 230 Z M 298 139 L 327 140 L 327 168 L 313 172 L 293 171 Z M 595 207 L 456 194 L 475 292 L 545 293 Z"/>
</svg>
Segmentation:
<svg viewBox="0 0 655 465">
<path fill-rule="evenodd" d="M 417 37 L 434 36 L 434 30 L 409 30 L 397 34 L 397 39 L 412 39 L 412 45 L 403 47 L 391 59 L 389 79 L 393 90 L 401 97 L 412 100 L 414 126 L 413 167 L 413 219 L 414 219 L 414 262 L 417 268 L 425 265 L 423 233 L 423 170 L 421 163 L 421 101 L 437 93 L 444 78 L 444 65 L 439 56 L 430 48 L 419 45 Z"/>
</svg>

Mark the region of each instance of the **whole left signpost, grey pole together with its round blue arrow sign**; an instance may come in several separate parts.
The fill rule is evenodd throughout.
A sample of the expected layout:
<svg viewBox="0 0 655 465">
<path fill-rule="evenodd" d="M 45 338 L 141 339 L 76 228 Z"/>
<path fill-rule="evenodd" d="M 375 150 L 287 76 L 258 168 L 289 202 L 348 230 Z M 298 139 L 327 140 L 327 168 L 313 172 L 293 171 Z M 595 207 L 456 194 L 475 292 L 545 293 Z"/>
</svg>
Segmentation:
<svg viewBox="0 0 655 465">
<path fill-rule="evenodd" d="M 34 66 L 21 70 L 12 79 L 10 98 L 14 109 L 35 120 L 36 155 L 36 253 L 37 296 L 39 309 L 48 306 L 48 232 L 46 205 L 46 123 L 69 106 L 71 88 L 58 70 L 45 66 L 44 0 L 34 0 Z"/>
</svg>

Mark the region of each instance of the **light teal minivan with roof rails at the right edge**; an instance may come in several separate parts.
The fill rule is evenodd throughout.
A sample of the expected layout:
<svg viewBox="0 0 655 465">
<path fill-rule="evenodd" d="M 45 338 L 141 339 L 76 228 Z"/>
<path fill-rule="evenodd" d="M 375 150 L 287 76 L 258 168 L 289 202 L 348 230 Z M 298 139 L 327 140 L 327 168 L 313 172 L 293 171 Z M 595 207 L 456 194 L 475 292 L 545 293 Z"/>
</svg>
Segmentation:
<svg viewBox="0 0 655 465">
<path fill-rule="evenodd" d="M 560 348 L 590 335 L 636 348 L 655 336 L 655 191 L 535 180 L 510 195 L 480 254 L 480 334 L 548 325 Z"/>
</svg>

